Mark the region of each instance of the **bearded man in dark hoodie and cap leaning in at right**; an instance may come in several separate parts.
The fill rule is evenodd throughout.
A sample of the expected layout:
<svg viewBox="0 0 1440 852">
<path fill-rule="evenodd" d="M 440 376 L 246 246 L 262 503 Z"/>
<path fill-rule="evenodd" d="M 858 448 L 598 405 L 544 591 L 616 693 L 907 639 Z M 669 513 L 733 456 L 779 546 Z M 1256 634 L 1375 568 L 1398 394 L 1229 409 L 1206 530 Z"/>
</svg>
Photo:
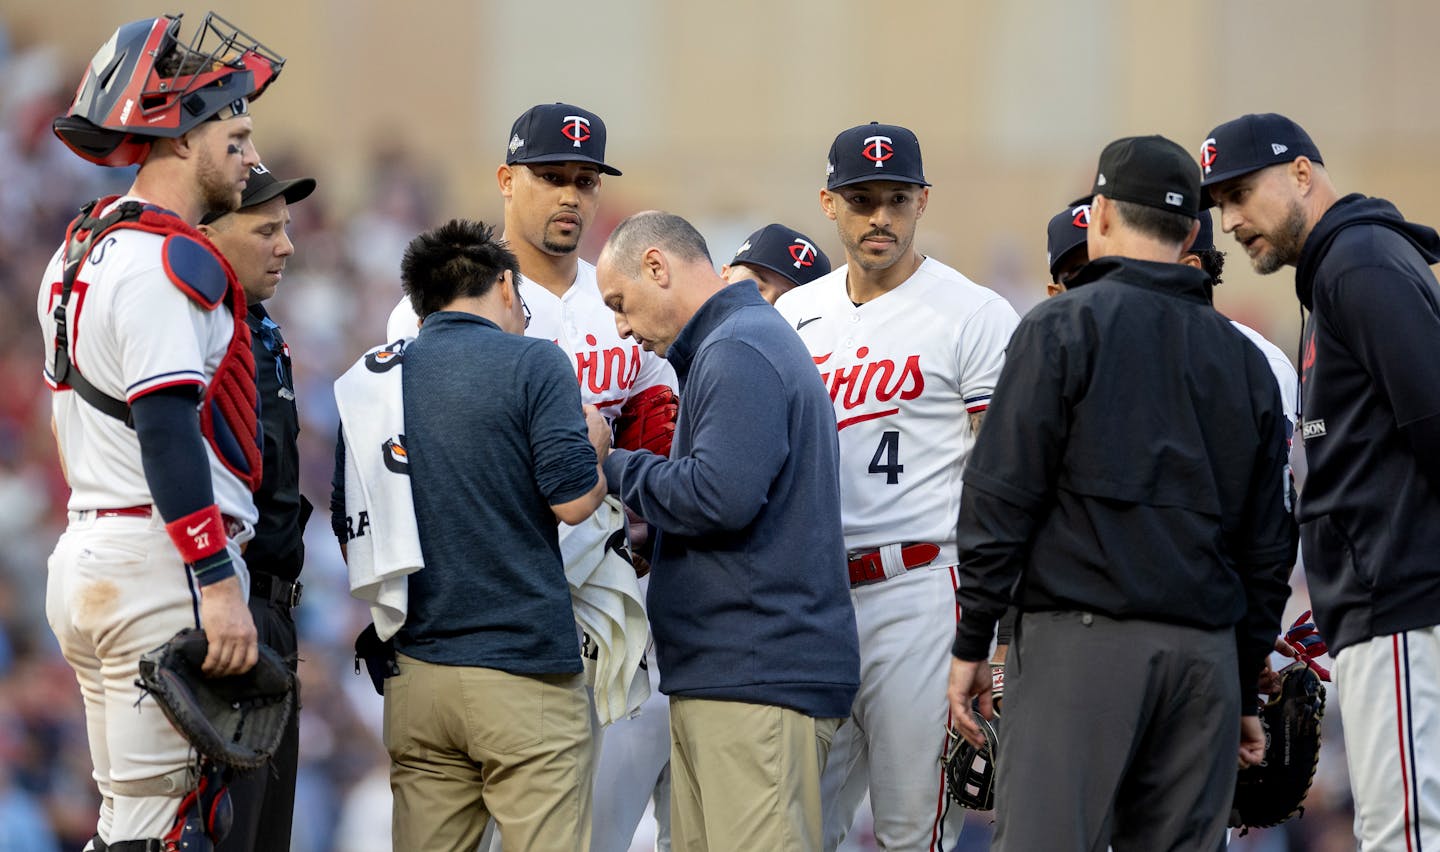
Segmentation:
<svg viewBox="0 0 1440 852">
<path fill-rule="evenodd" d="M 1310 137 L 1244 115 L 1201 150 L 1260 273 L 1295 266 L 1300 545 L 1335 655 L 1361 849 L 1440 848 L 1440 235 L 1341 197 Z"/>
</svg>

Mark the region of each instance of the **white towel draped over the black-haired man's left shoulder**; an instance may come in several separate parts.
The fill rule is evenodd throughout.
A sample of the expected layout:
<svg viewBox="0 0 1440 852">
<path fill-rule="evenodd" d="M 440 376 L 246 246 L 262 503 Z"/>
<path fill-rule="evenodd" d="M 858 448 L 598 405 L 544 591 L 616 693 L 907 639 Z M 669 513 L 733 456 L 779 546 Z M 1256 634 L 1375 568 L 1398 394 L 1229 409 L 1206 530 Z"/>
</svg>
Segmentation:
<svg viewBox="0 0 1440 852">
<path fill-rule="evenodd" d="M 405 455 L 400 363 L 406 343 L 370 350 L 336 380 L 346 442 L 346 515 L 354 518 L 350 525 L 357 532 L 346 545 L 350 594 L 370 604 L 380 639 L 405 625 L 406 577 L 425 567 Z"/>
</svg>

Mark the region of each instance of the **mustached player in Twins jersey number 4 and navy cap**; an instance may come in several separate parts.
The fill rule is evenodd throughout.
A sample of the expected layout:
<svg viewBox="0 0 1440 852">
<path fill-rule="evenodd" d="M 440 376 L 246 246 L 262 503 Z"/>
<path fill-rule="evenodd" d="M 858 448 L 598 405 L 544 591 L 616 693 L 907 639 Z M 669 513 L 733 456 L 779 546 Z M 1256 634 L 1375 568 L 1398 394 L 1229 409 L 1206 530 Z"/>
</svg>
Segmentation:
<svg viewBox="0 0 1440 852">
<path fill-rule="evenodd" d="M 845 265 L 775 305 L 835 406 L 860 629 L 860 695 L 822 784 L 827 849 L 850 830 L 867 787 L 883 849 L 949 849 L 963 820 L 939 760 L 955 518 L 960 471 L 1018 317 L 914 246 L 929 186 L 912 131 L 864 124 L 835 137 L 819 201 Z"/>
</svg>

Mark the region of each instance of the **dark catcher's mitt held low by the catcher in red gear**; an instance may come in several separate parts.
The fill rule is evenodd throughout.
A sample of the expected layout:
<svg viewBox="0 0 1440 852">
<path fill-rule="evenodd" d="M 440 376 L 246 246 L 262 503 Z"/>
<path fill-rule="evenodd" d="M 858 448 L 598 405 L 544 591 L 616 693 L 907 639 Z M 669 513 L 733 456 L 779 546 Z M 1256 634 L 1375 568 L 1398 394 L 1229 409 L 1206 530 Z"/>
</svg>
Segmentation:
<svg viewBox="0 0 1440 852">
<path fill-rule="evenodd" d="M 180 630 L 140 658 L 135 685 L 202 756 L 228 769 L 259 767 L 275 753 L 295 710 L 295 674 L 261 643 L 251 671 L 209 678 L 200 671 L 206 651 L 204 630 Z"/>
</svg>

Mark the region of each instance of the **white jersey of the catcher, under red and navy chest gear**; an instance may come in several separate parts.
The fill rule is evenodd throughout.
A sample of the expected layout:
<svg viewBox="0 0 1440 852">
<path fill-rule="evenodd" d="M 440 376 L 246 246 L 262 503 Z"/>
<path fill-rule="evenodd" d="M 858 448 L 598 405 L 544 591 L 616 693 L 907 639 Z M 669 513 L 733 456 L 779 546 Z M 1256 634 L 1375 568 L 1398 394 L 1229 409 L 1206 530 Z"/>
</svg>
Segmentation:
<svg viewBox="0 0 1440 852">
<path fill-rule="evenodd" d="M 206 387 L 235 334 L 228 305 L 206 311 L 170 281 L 160 253 L 164 239 L 134 229 L 112 230 L 81 263 L 71 291 L 71 363 L 98 390 L 125 402 L 176 384 Z M 45 269 L 36 301 L 45 335 L 45 381 L 52 390 L 52 312 L 60 299 L 63 273 L 62 246 Z M 154 502 L 134 429 L 68 389 L 52 394 L 52 410 L 72 511 Z M 209 442 L 204 449 L 220 511 L 255 522 L 251 489 L 225 468 Z"/>
</svg>

